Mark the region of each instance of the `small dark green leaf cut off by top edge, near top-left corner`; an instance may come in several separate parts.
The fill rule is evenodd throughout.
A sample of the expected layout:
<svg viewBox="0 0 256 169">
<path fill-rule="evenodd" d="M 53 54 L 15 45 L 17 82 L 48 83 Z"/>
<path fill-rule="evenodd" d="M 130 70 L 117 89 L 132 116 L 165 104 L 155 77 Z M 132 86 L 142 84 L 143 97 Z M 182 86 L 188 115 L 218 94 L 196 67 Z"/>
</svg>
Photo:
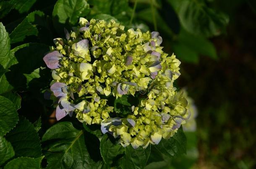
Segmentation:
<svg viewBox="0 0 256 169">
<path fill-rule="evenodd" d="M 37 0 L 10 0 L 10 3 L 19 13 L 25 13 L 30 10 L 36 1 Z"/>
</svg>

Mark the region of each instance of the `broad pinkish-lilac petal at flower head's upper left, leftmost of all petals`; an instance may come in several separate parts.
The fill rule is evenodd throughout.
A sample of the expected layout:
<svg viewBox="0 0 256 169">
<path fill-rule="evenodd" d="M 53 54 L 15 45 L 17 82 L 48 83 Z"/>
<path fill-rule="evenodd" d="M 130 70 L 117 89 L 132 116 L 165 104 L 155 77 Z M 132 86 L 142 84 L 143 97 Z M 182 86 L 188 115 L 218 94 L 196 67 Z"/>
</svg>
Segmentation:
<svg viewBox="0 0 256 169">
<path fill-rule="evenodd" d="M 60 57 L 63 57 L 63 55 L 60 54 L 57 50 L 55 50 L 45 55 L 43 60 L 48 68 L 57 69 L 60 67 L 60 64 L 59 64 Z"/>
</svg>

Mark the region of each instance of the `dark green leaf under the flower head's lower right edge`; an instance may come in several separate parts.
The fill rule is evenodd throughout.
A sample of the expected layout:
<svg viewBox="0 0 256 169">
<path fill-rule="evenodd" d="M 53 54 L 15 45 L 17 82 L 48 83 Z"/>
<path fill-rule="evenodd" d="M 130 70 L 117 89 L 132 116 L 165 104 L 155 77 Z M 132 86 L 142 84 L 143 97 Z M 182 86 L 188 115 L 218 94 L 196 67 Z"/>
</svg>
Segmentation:
<svg viewBox="0 0 256 169">
<path fill-rule="evenodd" d="M 162 139 L 155 147 L 169 157 L 180 156 L 186 153 L 186 136 L 182 128 L 170 139 Z"/>
</svg>

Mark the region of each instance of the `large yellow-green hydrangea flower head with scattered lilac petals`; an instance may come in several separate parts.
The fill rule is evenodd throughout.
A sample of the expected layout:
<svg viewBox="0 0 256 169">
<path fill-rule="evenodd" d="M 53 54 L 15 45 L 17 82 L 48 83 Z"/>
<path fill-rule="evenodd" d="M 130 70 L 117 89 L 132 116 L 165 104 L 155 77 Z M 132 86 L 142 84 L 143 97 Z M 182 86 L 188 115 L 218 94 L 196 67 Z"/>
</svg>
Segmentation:
<svg viewBox="0 0 256 169">
<path fill-rule="evenodd" d="M 79 121 L 101 125 L 103 134 L 134 149 L 173 136 L 189 118 L 188 102 L 173 86 L 180 61 L 163 52 L 159 33 L 125 31 L 114 20 L 80 18 L 79 23 L 65 30 L 65 39 L 54 39 L 56 47 L 44 56 L 52 69 L 57 120 L 74 112 Z M 141 91 L 146 92 L 128 114 L 114 111 L 111 97 Z"/>
</svg>

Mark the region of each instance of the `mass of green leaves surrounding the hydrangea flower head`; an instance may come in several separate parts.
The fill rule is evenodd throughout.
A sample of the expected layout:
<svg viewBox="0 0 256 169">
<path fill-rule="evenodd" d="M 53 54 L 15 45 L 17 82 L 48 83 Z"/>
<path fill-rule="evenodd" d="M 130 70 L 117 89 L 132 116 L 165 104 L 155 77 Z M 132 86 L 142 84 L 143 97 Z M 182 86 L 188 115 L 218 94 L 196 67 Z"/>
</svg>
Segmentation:
<svg viewBox="0 0 256 169">
<path fill-rule="evenodd" d="M 77 124 L 73 117 L 53 124 L 55 120 L 49 120 L 54 114 L 52 105 L 44 99 L 51 73 L 44 68 L 43 57 L 53 37 L 64 37 L 64 28 L 76 26 L 79 17 L 114 19 L 126 28 L 143 31 L 158 29 L 164 39 L 170 39 L 164 44 L 172 46 L 167 50 L 184 62 L 198 63 L 201 56 L 218 58 L 208 38 L 225 32 L 225 14 L 210 8 L 204 0 L 199 4 L 190 0 L 150 2 L 0 2 L 0 167 L 139 169 L 185 153 L 182 129 L 171 139 L 162 139 L 146 149 L 133 149 L 131 145 L 124 148 L 109 134 L 102 135 L 97 126 Z M 114 102 L 116 112 L 128 114 L 129 98 Z"/>
</svg>

